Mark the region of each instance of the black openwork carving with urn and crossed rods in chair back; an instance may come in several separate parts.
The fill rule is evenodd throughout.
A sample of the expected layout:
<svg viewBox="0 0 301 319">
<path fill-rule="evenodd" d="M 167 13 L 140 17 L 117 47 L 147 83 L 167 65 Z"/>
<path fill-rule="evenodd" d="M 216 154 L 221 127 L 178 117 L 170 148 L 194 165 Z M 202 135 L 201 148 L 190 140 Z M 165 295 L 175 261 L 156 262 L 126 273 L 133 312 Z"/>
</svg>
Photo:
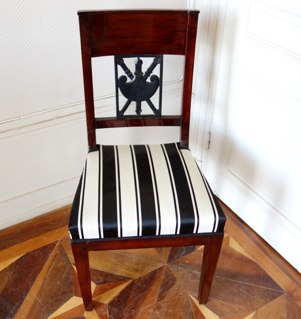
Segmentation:
<svg viewBox="0 0 301 319">
<path fill-rule="evenodd" d="M 145 56 L 145 55 L 144 55 Z M 124 56 L 124 57 L 133 57 L 133 56 Z M 145 117 L 146 115 L 141 114 L 141 102 L 146 101 L 149 108 L 153 111 L 155 116 L 148 115 L 147 117 L 158 117 L 161 116 L 161 102 L 162 102 L 162 74 L 163 74 L 163 56 L 158 55 L 154 58 L 152 64 L 147 68 L 145 73 L 141 71 L 143 61 L 140 59 L 140 56 L 136 56 L 135 60 L 135 71 L 132 73 L 128 67 L 125 65 L 123 57 L 115 56 L 115 81 L 116 81 L 116 107 L 117 107 L 117 118 L 124 118 L 124 113 L 129 107 L 132 101 L 136 102 L 136 116 L 126 116 L 126 117 Z M 147 56 L 149 57 L 149 56 Z M 154 57 L 154 56 L 153 56 Z M 151 75 L 160 64 L 160 78 L 157 75 Z M 121 75 L 117 79 L 117 65 L 119 65 L 130 81 L 126 82 L 127 78 L 125 75 Z M 150 77 L 149 77 L 150 76 Z M 149 77 L 150 81 L 147 81 Z M 159 109 L 156 109 L 153 102 L 150 100 L 160 87 L 160 96 L 159 96 Z M 123 105 L 123 108 L 119 111 L 119 102 L 118 102 L 118 88 L 120 89 L 121 94 L 127 98 L 127 101 Z"/>
</svg>

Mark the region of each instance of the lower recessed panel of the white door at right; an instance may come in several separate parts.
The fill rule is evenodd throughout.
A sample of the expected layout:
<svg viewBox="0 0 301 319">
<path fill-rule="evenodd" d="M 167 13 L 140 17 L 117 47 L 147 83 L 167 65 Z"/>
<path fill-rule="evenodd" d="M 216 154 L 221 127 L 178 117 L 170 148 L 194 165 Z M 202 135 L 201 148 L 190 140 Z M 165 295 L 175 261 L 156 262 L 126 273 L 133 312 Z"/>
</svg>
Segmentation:
<svg viewBox="0 0 301 319">
<path fill-rule="evenodd" d="M 301 241 L 300 117 L 241 81 L 224 168 L 236 186 Z"/>
</svg>

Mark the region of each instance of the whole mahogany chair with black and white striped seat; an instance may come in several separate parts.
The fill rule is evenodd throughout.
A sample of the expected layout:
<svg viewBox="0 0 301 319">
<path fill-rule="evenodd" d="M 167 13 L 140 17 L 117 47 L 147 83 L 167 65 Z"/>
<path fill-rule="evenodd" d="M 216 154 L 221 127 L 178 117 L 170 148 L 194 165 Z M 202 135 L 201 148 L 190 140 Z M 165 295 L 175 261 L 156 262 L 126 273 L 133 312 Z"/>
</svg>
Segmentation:
<svg viewBox="0 0 301 319">
<path fill-rule="evenodd" d="M 89 151 L 69 232 L 87 311 L 93 308 L 88 251 L 100 250 L 205 245 L 199 302 L 207 302 L 226 219 L 188 149 L 198 14 L 196 10 L 78 12 Z M 150 100 L 157 89 L 162 96 L 163 54 L 185 56 L 181 116 L 162 116 L 161 102 L 156 109 Z M 116 117 L 95 118 L 91 58 L 107 55 L 115 56 L 115 72 L 122 68 L 131 84 L 126 76 L 116 75 Z M 134 74 L 124 62 L 127 56 L 137 58 Z M 154 61 L 143 75 L 145 56 Z M 146 81 L 159 64 L 160 78 L 153 75 Z M 121 111 L 118 89 L 128 98 Z M 140 114 L 144 100 L 152 115 Z M 136 115 L 126 116 L 131 101 L 136 102 Z M 141 126 L 179 126 L 180 142 L 96 144 L 95 129 Z"/>
</svg>

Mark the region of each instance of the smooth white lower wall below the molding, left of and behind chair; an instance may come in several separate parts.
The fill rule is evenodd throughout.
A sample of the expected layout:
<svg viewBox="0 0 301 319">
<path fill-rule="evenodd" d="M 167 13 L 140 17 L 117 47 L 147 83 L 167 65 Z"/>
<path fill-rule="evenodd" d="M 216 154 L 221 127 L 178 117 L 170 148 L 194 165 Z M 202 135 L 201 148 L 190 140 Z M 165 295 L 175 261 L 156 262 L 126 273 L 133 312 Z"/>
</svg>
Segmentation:
<svg viewBox="0 0 301 319">
<path fill-rule="evenodd" d="M 163 86 L 165 115 L 180 114 L 181 92 L 182 81 Z M 115 114 L 115 96 L 95 101 L 96 117 Z M 98 130 L 97 142 L 144 144 L 143 135 L 147 144 L 169 143 L 179 128 Z M 0 124 L 0 229 L 72 203 L 86 154 L 84 103 Z"/>
</svg>

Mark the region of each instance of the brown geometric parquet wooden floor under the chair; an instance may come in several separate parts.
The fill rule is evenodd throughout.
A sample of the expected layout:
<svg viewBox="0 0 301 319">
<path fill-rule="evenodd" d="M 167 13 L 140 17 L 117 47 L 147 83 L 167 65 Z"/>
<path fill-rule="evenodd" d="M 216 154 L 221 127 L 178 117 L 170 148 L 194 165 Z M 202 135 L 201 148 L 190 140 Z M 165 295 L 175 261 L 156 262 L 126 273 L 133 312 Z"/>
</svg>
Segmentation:
<svg viewBox="0 0 301 319">
<path fill-rule="evenodd" d="M 90 253 L 94 309 L 85 312 L 66 206 L 0 231 L 0 318 L 300 319 L 301 275 L 223 208 L 206 305 L 196 300 L 202 247 L 139 249 Z"/>
</svg>

